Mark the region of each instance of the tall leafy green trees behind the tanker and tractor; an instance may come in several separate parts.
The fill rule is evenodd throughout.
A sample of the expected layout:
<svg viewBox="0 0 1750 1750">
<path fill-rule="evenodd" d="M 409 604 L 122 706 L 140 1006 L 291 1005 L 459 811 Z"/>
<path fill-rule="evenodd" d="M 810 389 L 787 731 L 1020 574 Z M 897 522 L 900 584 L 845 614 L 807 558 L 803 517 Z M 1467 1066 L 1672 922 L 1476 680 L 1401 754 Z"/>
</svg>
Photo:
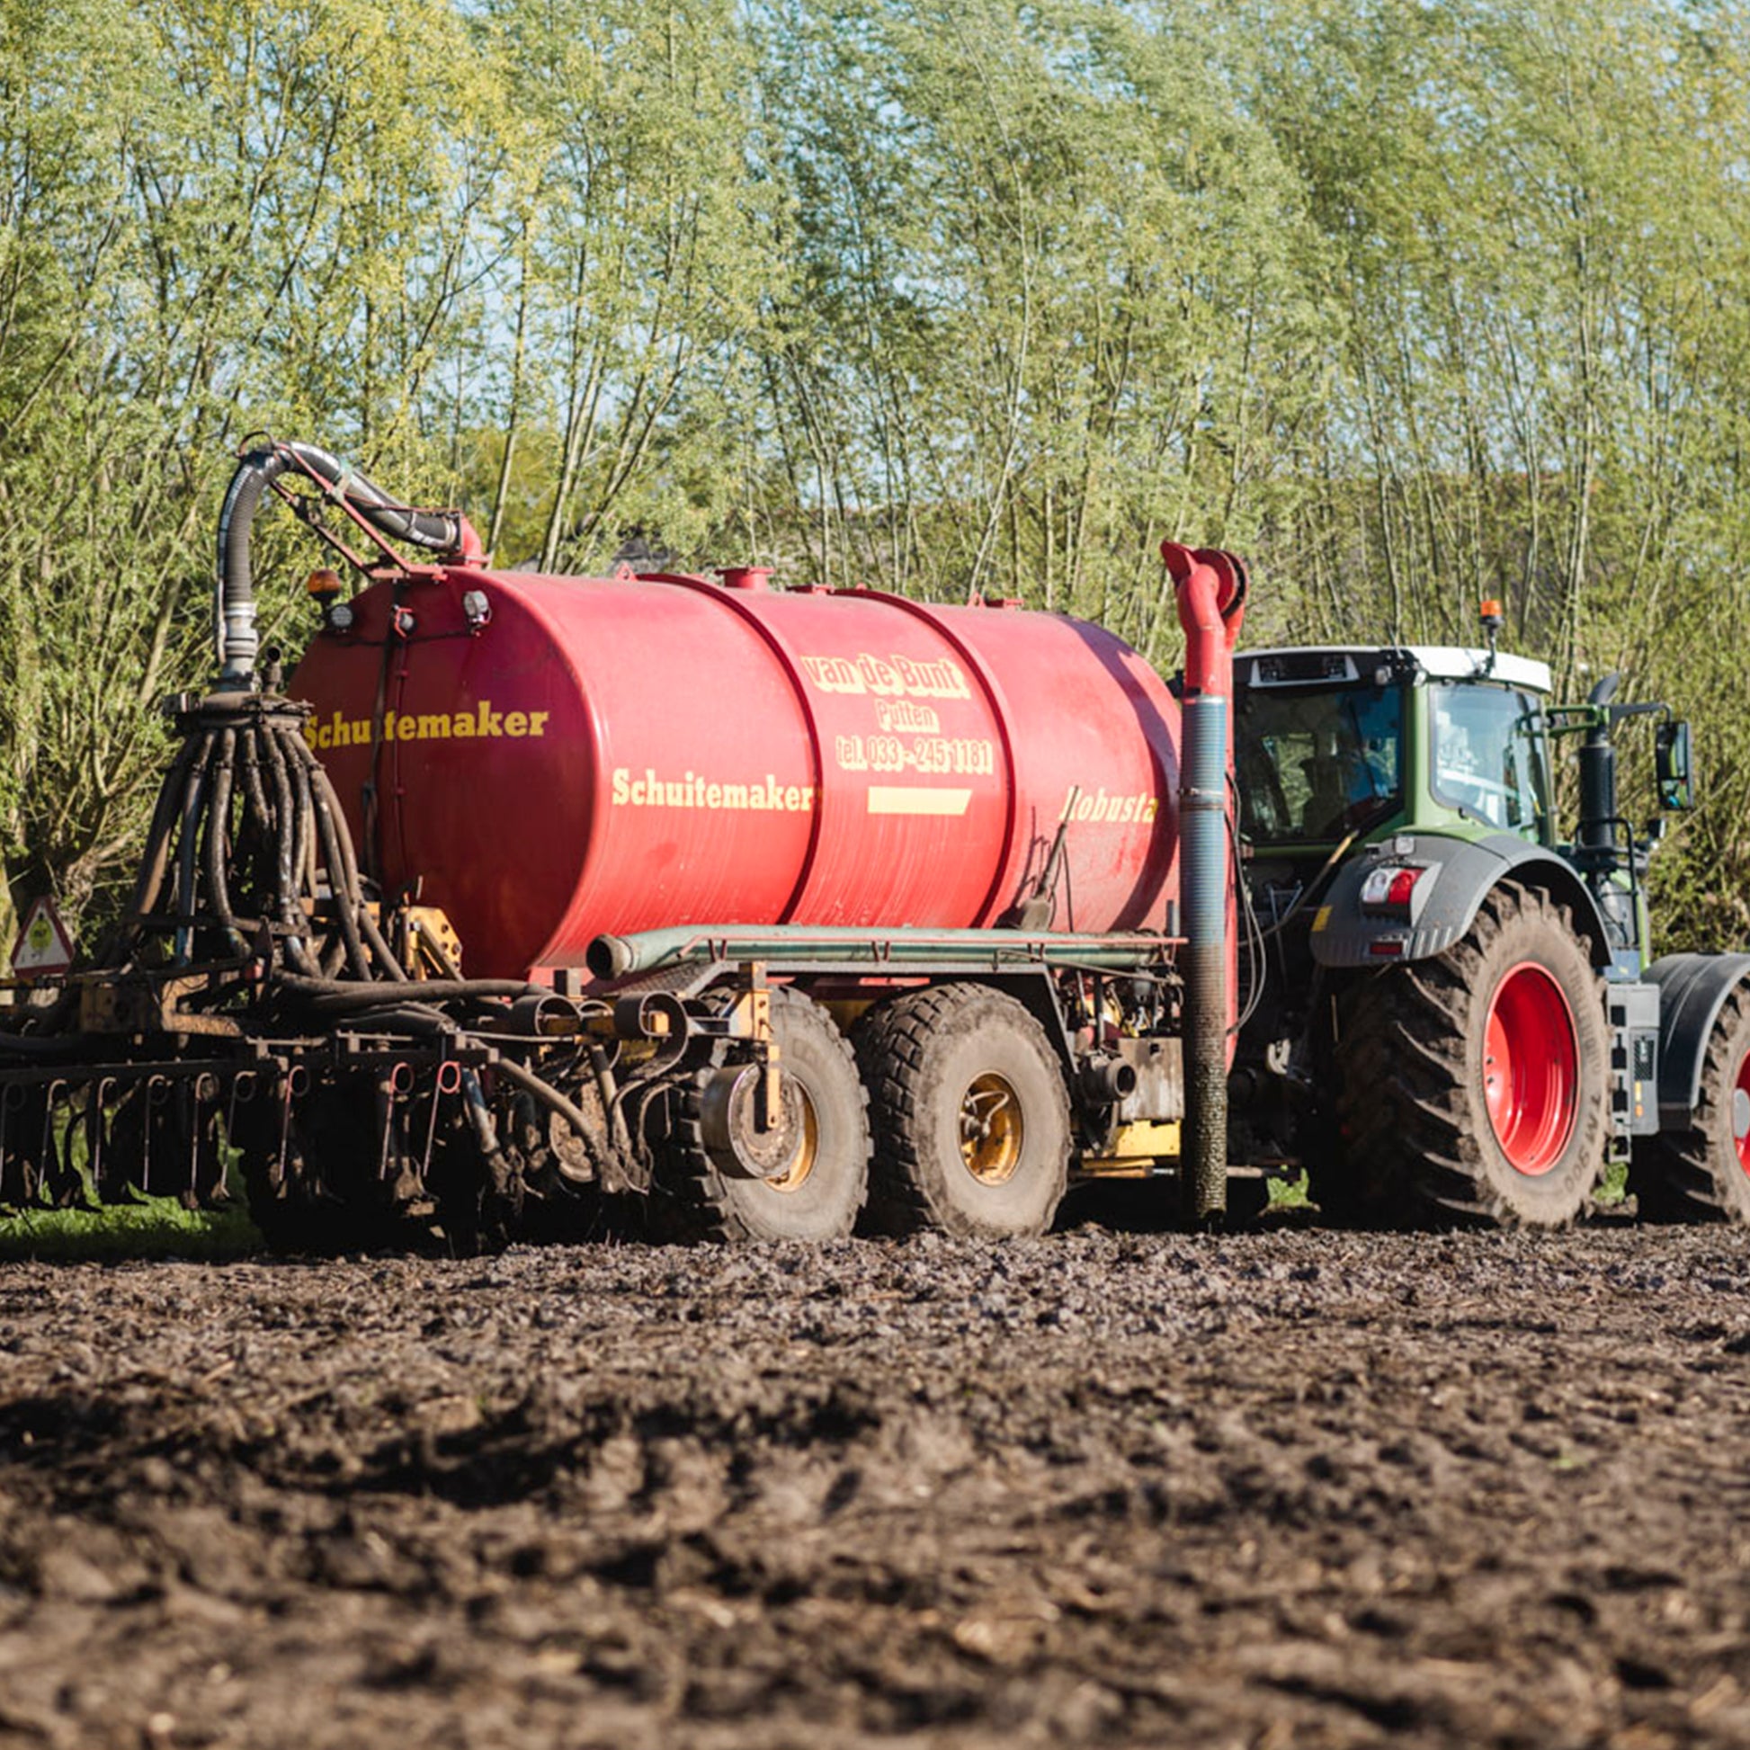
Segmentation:
<svg viewBox="0 0 1750 1750">
<path fill-rule="evenodd" d="M 504 564 L 1466 639 L 1698 723 L 1750 908 L 1750 21 L 1638 0 L 0 0 L 0 852 L 100 914 L 261 427 Z M 296 639 L 292 530 L 261 525 Z"/>
</svg>

